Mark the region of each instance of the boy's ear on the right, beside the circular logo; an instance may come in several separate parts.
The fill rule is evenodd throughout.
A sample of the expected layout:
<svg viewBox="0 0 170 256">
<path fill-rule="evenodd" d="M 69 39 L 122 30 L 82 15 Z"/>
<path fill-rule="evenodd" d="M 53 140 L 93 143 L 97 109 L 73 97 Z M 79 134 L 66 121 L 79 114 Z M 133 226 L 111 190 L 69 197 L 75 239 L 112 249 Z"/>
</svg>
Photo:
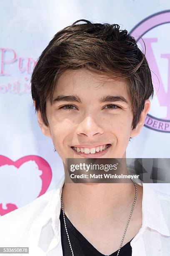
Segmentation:
<svg viewBox="0 0 170 256">
<path fill-rule="evenodd" d="M 131 131 L 130 137 L 135 137 L 140 133 L 140 130 L 142 129 L 142 127 L 145 123 L 145 118 L 146 118 L 146 115 L 149 112 L 149 110 L 150 110 L 150 100 L 146 100 L 144 109 L 140 114 L 140 120 L 139 120 L 136 128 Z"/>
</svg>

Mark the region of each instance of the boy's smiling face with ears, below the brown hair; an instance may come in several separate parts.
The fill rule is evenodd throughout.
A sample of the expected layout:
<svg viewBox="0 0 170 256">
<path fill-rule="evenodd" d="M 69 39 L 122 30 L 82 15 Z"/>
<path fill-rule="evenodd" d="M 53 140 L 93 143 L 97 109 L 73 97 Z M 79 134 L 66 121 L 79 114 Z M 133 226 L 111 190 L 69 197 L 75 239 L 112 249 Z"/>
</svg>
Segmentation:
<svg viewBox="0 0 170 256">
<path fill-rule="evenodd" d="M 125 158 L 129 138 L 140 132 L 150 108 L 150 101 L 146 100 L 138 128 L 132 130 L 133 113 L 126 86 L 125 79 L 107 79 L 106 75 L 85 69 L 67 70 L 60 76 L 53 95 L 56 100 L 52 105 L 47 101 L 49 126 L 44 125 L 39 111 L 37 118 L 42 133 L 52 137 L 62 161 L 85 157 Z M 59 100 L 73 95 L 77 101 Z M 108 144 L 101 151 L 101 146 Z M 95 154 L 85 154 L 90 150 Z"/>
</svg>

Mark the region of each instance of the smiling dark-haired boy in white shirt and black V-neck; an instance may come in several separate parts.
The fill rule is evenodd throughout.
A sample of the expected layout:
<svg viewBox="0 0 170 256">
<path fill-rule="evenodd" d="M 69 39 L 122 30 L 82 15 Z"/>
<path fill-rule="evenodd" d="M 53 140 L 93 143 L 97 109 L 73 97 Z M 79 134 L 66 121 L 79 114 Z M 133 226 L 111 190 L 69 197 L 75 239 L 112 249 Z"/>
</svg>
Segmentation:
<svg viewBox="0 0 170 256">
<path fill-rule="evenodd" d="M 153 97 L 135 39 L 117 24 L 88 20 L 54 36 L 31 83 L 41 131 L 64 166 L 66 158 L 125 159 Z M 28 246 L 38 256 L 170 255 L 169 209 L 170 197 L 144 183 L 72 184 L 63 176 L 0 218 L 0 246 Z"/>
</svg>

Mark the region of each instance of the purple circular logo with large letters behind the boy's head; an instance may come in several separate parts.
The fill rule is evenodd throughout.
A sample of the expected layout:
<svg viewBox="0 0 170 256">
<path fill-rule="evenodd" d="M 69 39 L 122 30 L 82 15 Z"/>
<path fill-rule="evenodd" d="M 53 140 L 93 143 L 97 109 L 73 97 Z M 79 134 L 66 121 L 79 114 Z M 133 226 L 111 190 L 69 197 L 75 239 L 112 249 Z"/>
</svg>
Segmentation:
<svg viewBox="0 0 170 256">
<path fill-rule="evenodd" d="M 138 46 L 145 52 L 154 86 L 150 114 L 146 116 L 144 126 L 164 133 L 170 133 L 170 38 L 168 31 L 170 31 L 170 10 L 145 18 L 130 31 Z"/>
</svg>

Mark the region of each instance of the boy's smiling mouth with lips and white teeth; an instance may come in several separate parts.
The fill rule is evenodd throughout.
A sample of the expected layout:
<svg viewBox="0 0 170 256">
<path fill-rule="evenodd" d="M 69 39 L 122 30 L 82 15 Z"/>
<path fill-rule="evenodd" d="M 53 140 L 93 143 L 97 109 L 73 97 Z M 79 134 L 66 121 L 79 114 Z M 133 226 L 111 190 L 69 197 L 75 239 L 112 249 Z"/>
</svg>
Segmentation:
<svg viewBox="0 0 170 256">
<path fill-rule="evenodd" d="M 104 155 L 109 148 L 111 147 L 111 144 L 104 144 L 92 148 L 85 148 L 85 147 L 74 147 L 71 146 L 72 150 L 82 156 L 82 157 L 87 157 L 87 158 L 92 158 L 92 157 L 99 157 Z"/>
</svg>

